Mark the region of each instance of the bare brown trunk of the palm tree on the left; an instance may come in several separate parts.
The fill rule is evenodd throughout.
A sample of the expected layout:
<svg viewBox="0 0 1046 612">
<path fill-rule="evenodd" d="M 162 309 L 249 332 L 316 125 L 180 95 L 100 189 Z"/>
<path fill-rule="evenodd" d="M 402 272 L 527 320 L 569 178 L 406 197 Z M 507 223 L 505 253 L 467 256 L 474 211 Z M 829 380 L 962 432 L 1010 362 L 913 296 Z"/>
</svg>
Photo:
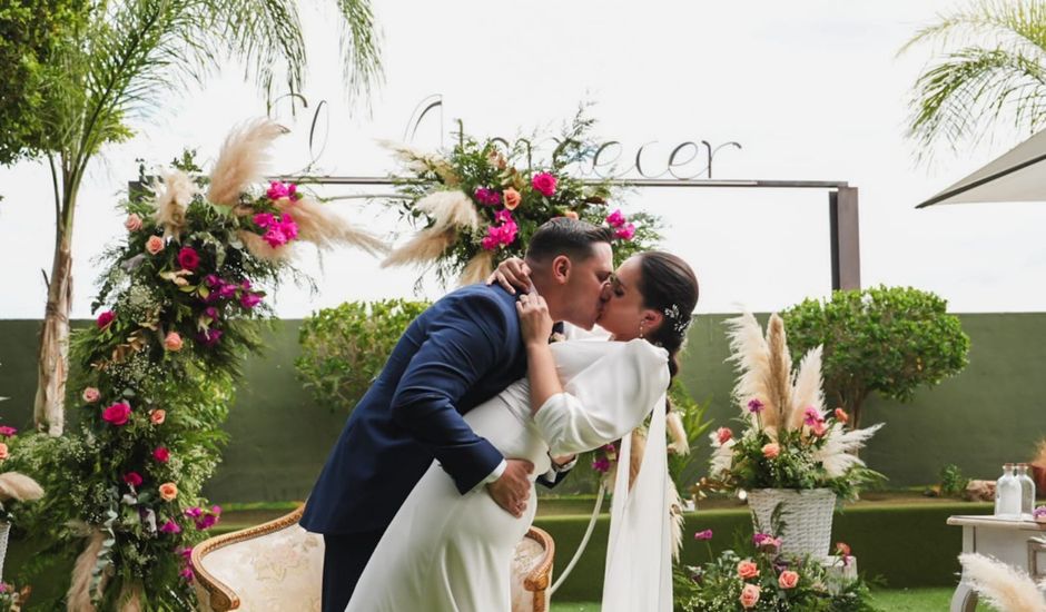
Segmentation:
<svg viewBox="0 0 1046 612">
<path fill-rule="evenodd" d="M 59 230 L 55 247 L 40 351 L 37 361 L 37 397 L 33 419 L 38 430 L 60 436 L 65 430 L 66 378 L 69 373 L 69 312 L 72 306 L 71 236 Z"/>
</svg>

